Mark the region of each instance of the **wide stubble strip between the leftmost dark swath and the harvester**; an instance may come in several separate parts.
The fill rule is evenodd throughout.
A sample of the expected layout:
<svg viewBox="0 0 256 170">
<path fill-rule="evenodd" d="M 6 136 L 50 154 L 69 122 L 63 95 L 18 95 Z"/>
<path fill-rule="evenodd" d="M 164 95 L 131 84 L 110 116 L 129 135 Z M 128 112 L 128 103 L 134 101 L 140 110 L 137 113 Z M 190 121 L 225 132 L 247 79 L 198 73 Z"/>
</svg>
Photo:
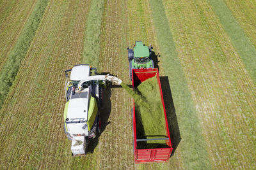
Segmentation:
<svg viewBox="0 0 256 170">
<path fill-rule="evenodd" d="M 1 169 L 76 169 L 63 132 L 63 71 L 81 61 L 89 8 L 49 1 L 1 110 Z"/>
</svg>

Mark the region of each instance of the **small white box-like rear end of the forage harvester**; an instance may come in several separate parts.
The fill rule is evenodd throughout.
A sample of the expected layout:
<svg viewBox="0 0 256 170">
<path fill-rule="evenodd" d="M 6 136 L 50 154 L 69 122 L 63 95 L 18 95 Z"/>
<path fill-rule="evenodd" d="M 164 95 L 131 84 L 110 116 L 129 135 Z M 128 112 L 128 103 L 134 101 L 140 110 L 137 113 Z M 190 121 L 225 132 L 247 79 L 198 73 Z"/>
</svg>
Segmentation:
<svg viewBox="0 0 256 170">
<path fill-rule="evenodd" d="M 85 154 L 84 136 L 74 136 L 72 139 L 71 151 L 74 155 Z"/>
</svg>

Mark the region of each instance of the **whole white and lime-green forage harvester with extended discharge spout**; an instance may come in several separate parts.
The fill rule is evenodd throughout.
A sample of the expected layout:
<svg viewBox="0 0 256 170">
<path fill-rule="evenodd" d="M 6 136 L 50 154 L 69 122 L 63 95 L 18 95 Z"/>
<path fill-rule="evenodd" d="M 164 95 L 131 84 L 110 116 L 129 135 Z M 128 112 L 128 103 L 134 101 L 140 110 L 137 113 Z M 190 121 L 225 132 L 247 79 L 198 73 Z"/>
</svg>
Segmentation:
<svg viewBox="0 0 256 170">
<path fill-rule="evenodd" d="M 97 69 L 88 64 L 76 65 L 66 70 L 65 75 L 64 131 L 72 140 L 72 155 L 84 155 L 89 140 L 100 133 L 102 90 L 106 81 L 120 85 L 122 80 L 109 74 L 98 75 Z"/>
</svg>

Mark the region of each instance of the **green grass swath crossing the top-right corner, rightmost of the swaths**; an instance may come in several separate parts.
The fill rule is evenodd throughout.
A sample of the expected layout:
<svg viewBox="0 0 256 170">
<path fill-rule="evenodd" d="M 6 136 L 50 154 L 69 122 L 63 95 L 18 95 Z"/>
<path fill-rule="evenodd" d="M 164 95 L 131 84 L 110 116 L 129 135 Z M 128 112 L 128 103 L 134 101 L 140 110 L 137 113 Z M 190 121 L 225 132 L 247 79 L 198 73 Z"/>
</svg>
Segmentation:
<svg viewBox="0 0 256 170">
<path fill-rule="evenodd" d="M 256 84 L 256 49 L 223 0 L 208 0 Z"/>
</svg>

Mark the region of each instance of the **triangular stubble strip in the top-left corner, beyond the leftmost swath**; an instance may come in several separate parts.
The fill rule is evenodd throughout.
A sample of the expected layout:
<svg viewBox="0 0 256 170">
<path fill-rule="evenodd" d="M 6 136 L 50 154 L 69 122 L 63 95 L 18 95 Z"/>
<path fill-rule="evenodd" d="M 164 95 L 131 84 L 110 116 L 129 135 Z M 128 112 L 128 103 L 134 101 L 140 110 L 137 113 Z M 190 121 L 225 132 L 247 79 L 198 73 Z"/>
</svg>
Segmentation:
<svg viewBox="0 0 256 170">
<path fill-rule="evenodd" d="M 0 71 L 20 36 L 36 1 L 3 1 L 0 4 Z"/>
</svg>

